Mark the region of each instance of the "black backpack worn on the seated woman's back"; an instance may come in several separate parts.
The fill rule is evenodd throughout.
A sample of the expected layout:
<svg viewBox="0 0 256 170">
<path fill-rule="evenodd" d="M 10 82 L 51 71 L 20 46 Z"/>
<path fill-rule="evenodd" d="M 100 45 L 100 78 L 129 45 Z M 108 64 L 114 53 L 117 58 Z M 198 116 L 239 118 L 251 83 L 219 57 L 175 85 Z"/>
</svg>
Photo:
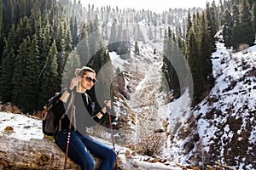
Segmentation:
<svg viewBox="0 0 256 170">
<path fill-rule="evenodd" d="M 44 111 L 41 113 L 43 119 L 42 130 L 47 136 L 53 136 L 57 131 L 57 127 L 55 127 L 55 113 L 51 110 L 51 108 L 60 98 L 61 92 L 56 93 L 48 100 L 47 104 L 44 106 Z"/>
</svg>

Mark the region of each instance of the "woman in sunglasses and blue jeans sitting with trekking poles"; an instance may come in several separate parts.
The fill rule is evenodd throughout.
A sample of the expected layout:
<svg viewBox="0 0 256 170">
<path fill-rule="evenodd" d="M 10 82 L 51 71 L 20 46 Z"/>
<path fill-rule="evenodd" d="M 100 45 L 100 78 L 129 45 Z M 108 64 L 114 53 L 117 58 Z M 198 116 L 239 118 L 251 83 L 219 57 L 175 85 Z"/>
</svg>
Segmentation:
<svg viewBox="0 0 256 170">
<path fill-rule="evenodd" d="M 73 112 L 68 156 L 79 164 L 82 170 L 93 170 L 95 161 L 90 156 L 91 153 L 102 159 L 101 170 L 112 170 L 116 158 L 115 151 L 91 139 L 86 133 L 86 127 L 96 124 L 106 113 L 106 107 L 111 108 L 111 102 L 105 101 L 105 107 L 94 116 L 90 97 L 88 94 L 85 94 L 85 91 L 90 90 L 95 84 L 96 72 L 90 67 L 84 66 L 81 69 L 77 69 L 75 74 L 76 77 L 71 80 L 61 99 L 52 108 L 59 118 L 65 111 L 68 113 L 68 116 L 61 119 L 60 130 L 55 134 L 55 143 L 61 147 L 61 150 L 66 152 L 67 133 L 70 123 L 69 117 L 70 113 Z M 57 124 L 58 122 L 55 123 Z"/>
</svg>

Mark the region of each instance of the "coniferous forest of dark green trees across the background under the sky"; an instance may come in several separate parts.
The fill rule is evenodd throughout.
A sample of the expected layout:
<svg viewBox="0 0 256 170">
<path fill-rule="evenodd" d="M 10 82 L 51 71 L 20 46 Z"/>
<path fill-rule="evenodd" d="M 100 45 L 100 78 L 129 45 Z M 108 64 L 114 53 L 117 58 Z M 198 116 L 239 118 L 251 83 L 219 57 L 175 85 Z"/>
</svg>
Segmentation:
<svg viewBox="0 0 256 170">
<path fill-rule="evenodd" d="M 138 25 L 143 20 L 148 23 L 151 41 L 156 41 L 155 29 L 166 26 L 160 29 L 162 71 L 176 98 L 182 89 L 169 58 L 179 57 L 172 55 L 174 46 L 181 49 L 192 73 L 196 105 L 214 85 L 211 54 L 217 31 L 223 28 L 227 48 L 238 51 L 254 44 L 256 2 L 220 0 L 218 5 L 207 3 L 203 9 L 170 8 L 155 14 L 147 9 L 83 7 L 76 0 L 0 0 L 1 102 L 17 105 L 23 112 L 42 110 L 49 97 L 67 86 L 63 79 L 72 77 L 63 77 L 69 59 L 73 60 L 68 65 L 71 70 L 89 65 L 96 72 L 110 60 L 108 52 L 115 51 L 126 59 L 130 38 L 145 41 Z M 106 82 L 108 74 L 102 76 Z M 116 89 L 112 90 L 114 94 Z"/>
</svg>

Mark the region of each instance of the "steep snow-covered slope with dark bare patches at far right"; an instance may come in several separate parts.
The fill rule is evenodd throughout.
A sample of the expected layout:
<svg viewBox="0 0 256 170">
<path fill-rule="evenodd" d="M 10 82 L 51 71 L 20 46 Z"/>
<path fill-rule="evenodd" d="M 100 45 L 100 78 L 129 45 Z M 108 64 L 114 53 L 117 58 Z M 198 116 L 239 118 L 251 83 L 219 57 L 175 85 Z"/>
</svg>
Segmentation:
<svg viewBox="0 0 256 170">
<path fill-rule="evenodd" d="M 183 155 L 169 154 L 194 165 L 255 169 L 256 46 L 232 53 L 217 42 L 212 65 L 215 86 L 171 139 Z"/>
</svg>

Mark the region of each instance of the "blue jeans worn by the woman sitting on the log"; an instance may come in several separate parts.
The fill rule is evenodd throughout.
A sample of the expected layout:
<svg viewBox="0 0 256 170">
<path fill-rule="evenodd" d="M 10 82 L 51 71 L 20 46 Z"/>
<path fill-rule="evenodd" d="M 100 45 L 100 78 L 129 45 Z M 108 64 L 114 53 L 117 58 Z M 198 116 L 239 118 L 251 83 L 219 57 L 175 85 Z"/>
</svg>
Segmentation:
<svg viewBox="0 0 256 170">
<path fill-rule="evenodd" d="M 56 133 L 55 143 L 66 153 L 68 130 Z M 89 152 L 90 151 L 90 152 Z M 93 170 L 95 161 L 90 153 L 102 159 L 100 170 L 112 170 L 116 158 L 115 151 L 105 146 L 88 135 L 71 131 L 67 156 L 81 167 L 81 170 Z"/>
</svg>

